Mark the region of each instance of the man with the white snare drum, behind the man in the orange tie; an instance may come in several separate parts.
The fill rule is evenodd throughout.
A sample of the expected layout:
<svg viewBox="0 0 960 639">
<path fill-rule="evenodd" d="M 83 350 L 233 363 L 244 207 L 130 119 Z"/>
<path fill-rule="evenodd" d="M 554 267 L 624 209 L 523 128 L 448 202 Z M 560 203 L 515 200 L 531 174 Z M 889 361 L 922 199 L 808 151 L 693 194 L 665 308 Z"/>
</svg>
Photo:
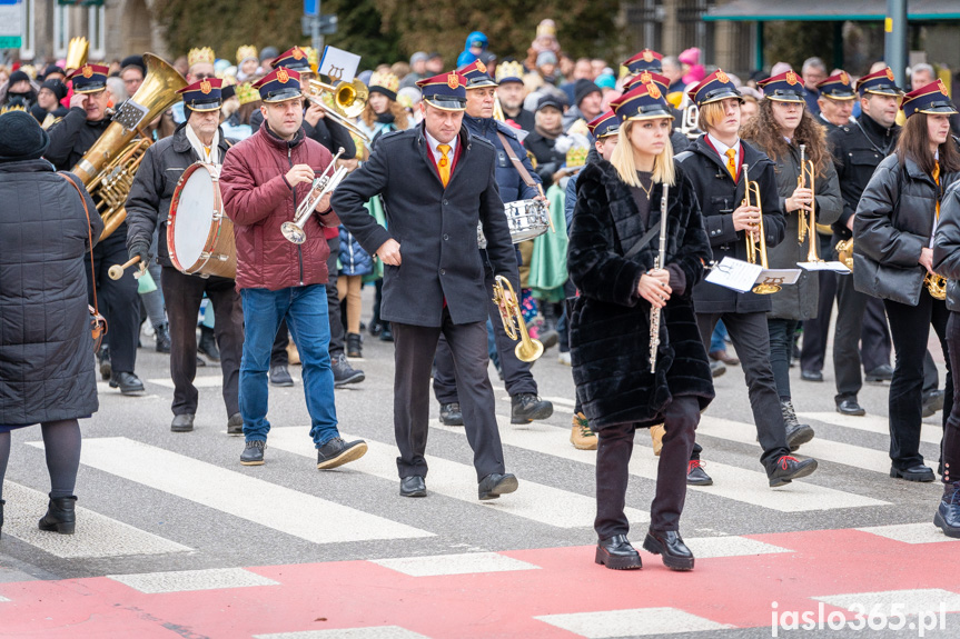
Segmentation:
<svg viewBox="0 0 960 639">
<path fill-rule="evenodd" d="M 545 200 L 536 188 L 540 176 L 533 169 L 526 151 L 517 140 L 515 129 L 498 122 L 493 117 L 496 98 L 496 81 L 486 72 L 486 67 L 479 60 L 461 70 L 466 78 L 466 112 L 464 127 L 474 138 L 483 138 L 496 149 L 496 181 L 501 198 L 506 202 L 514 200 Z M 507 148 L 507 146 L 509 148 Z M 530 183 L 527 183 L 530 182 Z M 486 290 L 492 290 L 494 271 L 487 264 L 484 252 L 481 251 L 481 262 L 484 264 L 484 283 Z M 519 260 L 519 252 L 515 252 Z M 517 288 L 517 293 L 519 289 Z M 547 419 L 553 415 L 553 403 L 541 399 L 537 395 L 536 381 L 533 378 L 532 362 L 521 361 L 516 357 L 516 342 L 509 339 L 503 329 L 499 311 L 487 296 L 487 309 L 493 323 L 494 341 L 499 356 L 501 370 L 506 391 L 511 397 L 511 423 L 530 423 L 536 419 Z M 436 353 L 436 372 L 434 375 L 434 393 L 441 405 L 441 421 L 447 426 L 463 426 L 465 415 L 461 410 L 458 382 L 456 378 L 451 349 L 445 339 L 441 339 Z"/>
</svg>

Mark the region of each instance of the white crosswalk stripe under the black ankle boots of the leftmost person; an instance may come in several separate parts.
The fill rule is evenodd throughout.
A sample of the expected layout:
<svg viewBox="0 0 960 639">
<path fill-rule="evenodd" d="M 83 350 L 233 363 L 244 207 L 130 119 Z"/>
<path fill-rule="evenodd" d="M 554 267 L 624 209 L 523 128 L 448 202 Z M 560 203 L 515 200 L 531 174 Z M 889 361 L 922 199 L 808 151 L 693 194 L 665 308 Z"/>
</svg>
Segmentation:
<svg viewBox="0 0 960 639">
<path fill-rule="evenodd" d="M 37 521 L 47 512 L 49 498 L 44 493 L 7 481 L 3 495 L 7 498 L 3 533 L 61 559 L 100 559 L 192 551 L 187 546 L 133 528 L 81 506 L 77 507 L 76 533 L 46 532 L 37 526 Z"/>
</svg>

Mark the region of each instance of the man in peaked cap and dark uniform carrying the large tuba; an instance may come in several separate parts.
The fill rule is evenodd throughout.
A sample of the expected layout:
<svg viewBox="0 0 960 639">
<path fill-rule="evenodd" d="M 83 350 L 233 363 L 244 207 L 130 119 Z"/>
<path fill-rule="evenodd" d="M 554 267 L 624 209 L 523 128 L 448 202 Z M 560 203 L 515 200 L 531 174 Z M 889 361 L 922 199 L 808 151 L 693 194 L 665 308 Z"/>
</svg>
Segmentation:
<svg viewBox="0 0 960 639">
<path fill-rule="evenodd" d="M 107 67 L 85 64 L 73 71 L 73 96 L 70 110 L 50 128 L 50 148 L 44 157 L 57 170 L 69 171 L 110 126 L 107 106 Z M 93 248 L 93 272 L 88 272 L 93 303 L 92 282 L 97 283 L 101 312 L 107 319 L 107 349 L 100 352 L 100 375 L 110 380 L 110 388 L 122 395 L 143 391 L 143 382 L 133 372 L 137 362 L 137 342 L 140 332 L 140 297 L 137 294 L 135 269 L 127 269 L 118 280 L 107 277 L 113 264 L 127 261 L 127 222 L 101 239 Z"/>
</svg>

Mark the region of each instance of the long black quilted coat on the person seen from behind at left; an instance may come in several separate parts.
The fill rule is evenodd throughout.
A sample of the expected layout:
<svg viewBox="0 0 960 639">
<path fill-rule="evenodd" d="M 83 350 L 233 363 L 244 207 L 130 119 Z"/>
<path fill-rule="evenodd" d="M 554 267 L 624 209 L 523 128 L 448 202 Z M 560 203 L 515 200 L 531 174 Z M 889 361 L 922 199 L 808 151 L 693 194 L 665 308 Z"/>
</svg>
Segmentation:
<svg viewBox="0 0 960 639">
<path fill-rule="evenodd" d="M 80 180 L 73 181 L 82 190 Z M 0 163 L 0 427 L 89 417 L 99 407 L 87 273 L 103 230 L 46 160 Z"/>
</svg>

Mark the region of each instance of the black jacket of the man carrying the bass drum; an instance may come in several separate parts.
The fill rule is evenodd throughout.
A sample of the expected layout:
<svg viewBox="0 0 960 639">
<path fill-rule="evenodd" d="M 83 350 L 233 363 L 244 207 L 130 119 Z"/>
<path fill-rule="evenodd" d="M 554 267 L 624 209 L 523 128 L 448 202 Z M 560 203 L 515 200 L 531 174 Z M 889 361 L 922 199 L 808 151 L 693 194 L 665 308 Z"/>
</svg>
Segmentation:
<svg viewBox="0 0 960 639">
<path fill-rule="evenodd" d="M 170 212 L 170 201 L 174 190 L 184 171 L 200 157 L 187 139 L 187 123 L 177 127 L 174 134 L 151 144 L 143 154 L 130 194 L 127 197 L 127 248 L 135 241 L 154 239 L 157 224 L 160 236 L 157 242 L 157 260 L 165 267 L 172 267 L 170 251 L 167 247 L 167 216 Z M 218 163 L 224 162 L 232 141 L 224 138 L 220 129 Z"/>
</svg>

